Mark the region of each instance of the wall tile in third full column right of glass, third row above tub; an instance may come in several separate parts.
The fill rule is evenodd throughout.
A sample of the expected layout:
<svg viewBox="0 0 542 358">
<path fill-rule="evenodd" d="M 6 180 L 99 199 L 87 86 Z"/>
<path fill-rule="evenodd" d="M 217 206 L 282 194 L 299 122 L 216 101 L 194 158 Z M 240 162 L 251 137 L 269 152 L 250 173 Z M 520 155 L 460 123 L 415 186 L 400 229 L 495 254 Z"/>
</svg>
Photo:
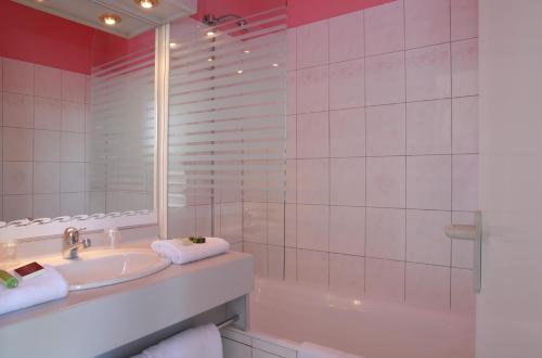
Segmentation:
<svg viewBox="0 0 542 358">
<path fill-rule="evenodd" d="M 404 207 L 404 156 L 367 157 L 367 206 Z"/>
</svg>

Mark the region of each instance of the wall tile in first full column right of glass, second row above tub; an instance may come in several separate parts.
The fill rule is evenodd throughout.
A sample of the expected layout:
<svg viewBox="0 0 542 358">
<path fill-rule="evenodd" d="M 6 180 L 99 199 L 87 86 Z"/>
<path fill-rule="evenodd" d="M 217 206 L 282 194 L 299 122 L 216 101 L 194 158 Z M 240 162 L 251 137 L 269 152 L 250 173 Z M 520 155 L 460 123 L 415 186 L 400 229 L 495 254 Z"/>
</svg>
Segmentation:
<svg viewBox="0 0 542 358">
<path fill-rule="evenodd" d="M 330 206 L 297 205 L 297 247 L 330 251 Z"/>
</svg>

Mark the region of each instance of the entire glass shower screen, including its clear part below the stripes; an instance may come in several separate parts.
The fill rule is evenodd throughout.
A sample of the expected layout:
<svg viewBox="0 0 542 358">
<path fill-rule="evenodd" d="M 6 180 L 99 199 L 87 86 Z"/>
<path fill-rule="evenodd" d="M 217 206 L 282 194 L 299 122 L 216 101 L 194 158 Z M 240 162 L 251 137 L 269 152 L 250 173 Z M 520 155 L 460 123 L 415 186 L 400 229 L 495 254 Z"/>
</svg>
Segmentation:
<svg viewBox="0 0 542 358">
<path fill-rule="evenodd" d="M 170 24 L 168 81 L 168 238 L 224 238 L 282 278 L 285 7 Z"/>
</svg>

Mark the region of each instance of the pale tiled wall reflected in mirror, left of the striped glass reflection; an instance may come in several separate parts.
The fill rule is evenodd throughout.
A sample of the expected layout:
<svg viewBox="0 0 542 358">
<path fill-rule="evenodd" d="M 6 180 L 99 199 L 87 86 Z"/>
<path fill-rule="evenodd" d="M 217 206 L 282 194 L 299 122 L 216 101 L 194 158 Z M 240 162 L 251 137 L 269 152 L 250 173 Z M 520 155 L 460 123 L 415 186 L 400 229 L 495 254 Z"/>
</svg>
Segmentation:
<svg viewBox="0 0 542 358">
<path fill-rule="evenodd" d="M 2 219 L 86 213 L 88 76 L 5 57 L 0 72 Z"/>
</svg>

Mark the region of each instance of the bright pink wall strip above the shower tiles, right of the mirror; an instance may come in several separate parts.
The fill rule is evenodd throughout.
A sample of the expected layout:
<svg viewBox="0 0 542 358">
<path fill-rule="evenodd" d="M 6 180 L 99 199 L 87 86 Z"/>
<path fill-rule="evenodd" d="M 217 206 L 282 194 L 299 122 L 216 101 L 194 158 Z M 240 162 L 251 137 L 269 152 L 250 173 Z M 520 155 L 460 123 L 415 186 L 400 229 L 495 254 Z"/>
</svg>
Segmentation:
<svg viewBox="0 0 542 358">
<path fill-rule="evenodd" d="M 338 16 L 352 11 L 379 5 L 391 0 L 199 0 L 195 18 L 212 13 L 217 16 L 238 14 L 246 16 L 266 9 L 272 9 L 287 3 L 288 26 L 296 27 L 313 23 L 319 20 Z"/>
</svg>

